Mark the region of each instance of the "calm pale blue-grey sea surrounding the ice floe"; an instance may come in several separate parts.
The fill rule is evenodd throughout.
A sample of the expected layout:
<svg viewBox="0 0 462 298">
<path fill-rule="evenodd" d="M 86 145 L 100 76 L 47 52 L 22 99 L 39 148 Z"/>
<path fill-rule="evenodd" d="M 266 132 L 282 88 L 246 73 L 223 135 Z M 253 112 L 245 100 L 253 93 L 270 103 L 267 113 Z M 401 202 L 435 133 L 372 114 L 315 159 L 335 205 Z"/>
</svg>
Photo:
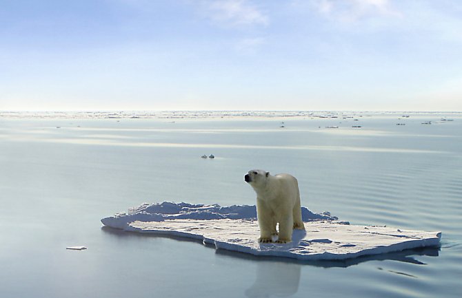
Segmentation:
<svg viewBox="0 0 462 298">
<path fill-rule="evenodd" d="M 462 295 L 462 114 L 82 115 L 0 115 L 0 297 Z M 352 224 L 442 231 L 441 248 L 294 262 L 99 222 L 255 204 L 250 169 L 292 173 L 303 206 Z"/>
</svg>

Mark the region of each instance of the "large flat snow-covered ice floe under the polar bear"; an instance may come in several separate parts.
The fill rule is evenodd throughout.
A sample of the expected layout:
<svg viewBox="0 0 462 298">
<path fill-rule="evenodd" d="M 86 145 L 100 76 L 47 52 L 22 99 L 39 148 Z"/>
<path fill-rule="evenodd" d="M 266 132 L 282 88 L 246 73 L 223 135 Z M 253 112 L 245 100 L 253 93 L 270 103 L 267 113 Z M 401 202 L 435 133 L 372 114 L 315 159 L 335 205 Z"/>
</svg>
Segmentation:
<svg viewBox="0 0 462 298">
<path fill-rule="evenodd" d="M 303 260 L 350 259 L 439 246 L 441 240 L 441 232 L 350 225 L 330 213 L 312 213 L 305 207 L 302 218 L 306 231 L 294 230 L 288 244 L 259 243 L 257 211 L 247 205 L 142 204 L 101 222 L 125 231 L 193 238 L 217 249 Z"/>
</svg>

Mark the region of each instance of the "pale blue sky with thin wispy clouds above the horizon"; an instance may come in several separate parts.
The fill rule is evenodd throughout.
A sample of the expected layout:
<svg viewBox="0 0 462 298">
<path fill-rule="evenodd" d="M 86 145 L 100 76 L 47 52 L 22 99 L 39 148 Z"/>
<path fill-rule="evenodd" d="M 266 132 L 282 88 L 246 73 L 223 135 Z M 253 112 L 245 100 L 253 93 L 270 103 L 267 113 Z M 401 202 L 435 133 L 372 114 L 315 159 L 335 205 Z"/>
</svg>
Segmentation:
<svg viewBox="0 0 462 298">
<path fill-rule="evenodd" d="M 462 111 L 459 0 L 0 0 L 0 110 Z"/>
</svg>

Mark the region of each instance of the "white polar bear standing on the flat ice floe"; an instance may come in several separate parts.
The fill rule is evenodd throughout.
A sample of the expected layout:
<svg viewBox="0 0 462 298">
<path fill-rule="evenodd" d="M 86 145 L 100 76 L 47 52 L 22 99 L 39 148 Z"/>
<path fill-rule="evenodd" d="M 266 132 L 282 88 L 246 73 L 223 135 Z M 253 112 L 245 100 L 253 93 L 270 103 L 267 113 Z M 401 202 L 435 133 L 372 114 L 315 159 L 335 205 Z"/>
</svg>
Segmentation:
<svg viewBox="0 0 462 298">
<path fill-rule="evenodd" d="M 285 173 L 270 175 L 267 171 L 251 170 L 245 174 L 244 180 L 257 193 L 259 242 L 272 242 L 272 235 L 278 235 L 278 223 L 278 243 L 291 242 L 294 228 L 305 230 L 301 220 L 299 183 L 294 176 Z"/>
</svg>

